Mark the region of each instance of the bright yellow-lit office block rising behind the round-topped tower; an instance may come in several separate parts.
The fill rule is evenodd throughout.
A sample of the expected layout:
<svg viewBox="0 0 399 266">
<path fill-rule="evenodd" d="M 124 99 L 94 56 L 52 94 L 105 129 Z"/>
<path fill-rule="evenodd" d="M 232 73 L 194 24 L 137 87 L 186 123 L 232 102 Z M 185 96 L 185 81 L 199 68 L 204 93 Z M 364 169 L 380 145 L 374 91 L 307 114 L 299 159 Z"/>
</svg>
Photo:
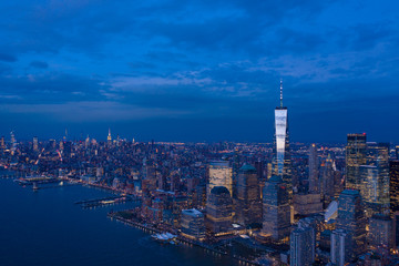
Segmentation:
<svg viewBox="0 0 399 266">
<path fill-rule="evenodd" d="M 226 161 L 213 161 L 209 163 L 209 182 L 207 195 L 215 186 L 225 186 L 233 196 L 233 170 Z"/>
</svg>

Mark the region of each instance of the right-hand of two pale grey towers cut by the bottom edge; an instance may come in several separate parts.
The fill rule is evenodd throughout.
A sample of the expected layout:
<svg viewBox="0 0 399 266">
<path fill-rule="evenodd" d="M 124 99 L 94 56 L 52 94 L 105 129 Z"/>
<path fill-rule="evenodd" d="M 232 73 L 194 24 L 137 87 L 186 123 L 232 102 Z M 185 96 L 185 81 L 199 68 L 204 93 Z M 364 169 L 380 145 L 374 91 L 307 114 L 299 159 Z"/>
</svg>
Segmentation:
<svg viewBox="0 0 399 266">
<path fill-rule="evenodd" d="M 335 229 L 331 233 L 331 263 L 337 266 L 344 266 L 350 260 L 351 253 L 349 236 L 345 229 Z"/>
</svg>

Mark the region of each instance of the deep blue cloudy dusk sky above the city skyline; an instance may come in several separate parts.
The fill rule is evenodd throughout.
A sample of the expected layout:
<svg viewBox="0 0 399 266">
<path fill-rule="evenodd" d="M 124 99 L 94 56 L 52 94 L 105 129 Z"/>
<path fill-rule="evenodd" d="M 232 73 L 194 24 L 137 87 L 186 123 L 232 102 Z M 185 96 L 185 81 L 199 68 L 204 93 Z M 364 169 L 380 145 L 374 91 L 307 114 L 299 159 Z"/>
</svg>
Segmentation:
<svg viewBox="0 0 399 266">
<path fill-rule="evenodd" d="M 397 1 L 2 1 L 0 134 L 399 142 Z"/>
</svg>

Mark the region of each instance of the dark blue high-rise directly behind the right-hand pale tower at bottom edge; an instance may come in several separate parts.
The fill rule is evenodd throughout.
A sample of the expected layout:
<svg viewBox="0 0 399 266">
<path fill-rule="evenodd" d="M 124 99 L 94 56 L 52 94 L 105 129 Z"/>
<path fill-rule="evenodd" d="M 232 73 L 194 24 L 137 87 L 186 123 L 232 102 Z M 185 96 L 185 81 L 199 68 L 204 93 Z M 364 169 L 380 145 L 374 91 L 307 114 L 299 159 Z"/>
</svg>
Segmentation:
<svg viewBox="0 0 399 266">
<path fill-rule="evenodd" d="M 348 235 L 348 257 L 356 258 L 365 253 L 366 216 L 359 191 L 345 190 L 339 195 L 337 229 L 345 229 Z"/>
</svg>

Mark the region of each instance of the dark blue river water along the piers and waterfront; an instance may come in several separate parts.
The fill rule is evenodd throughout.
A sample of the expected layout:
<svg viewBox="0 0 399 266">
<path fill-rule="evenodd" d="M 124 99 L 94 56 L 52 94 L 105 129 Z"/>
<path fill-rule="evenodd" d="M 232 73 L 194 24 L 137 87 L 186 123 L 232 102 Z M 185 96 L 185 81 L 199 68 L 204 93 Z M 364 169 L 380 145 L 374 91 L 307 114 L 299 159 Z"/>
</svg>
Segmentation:
<svg viewBox="0 0 399 266">
<path fill-rule="evenodd" d="M 39 190 L 0 180 L 0 265 L 119 266 L 231 265 L 197 247 L 165 245 L 111 221 L 112 208 L 82 209 L 74 202 L 112 195 L 84 186 Z"/>
</svg>

